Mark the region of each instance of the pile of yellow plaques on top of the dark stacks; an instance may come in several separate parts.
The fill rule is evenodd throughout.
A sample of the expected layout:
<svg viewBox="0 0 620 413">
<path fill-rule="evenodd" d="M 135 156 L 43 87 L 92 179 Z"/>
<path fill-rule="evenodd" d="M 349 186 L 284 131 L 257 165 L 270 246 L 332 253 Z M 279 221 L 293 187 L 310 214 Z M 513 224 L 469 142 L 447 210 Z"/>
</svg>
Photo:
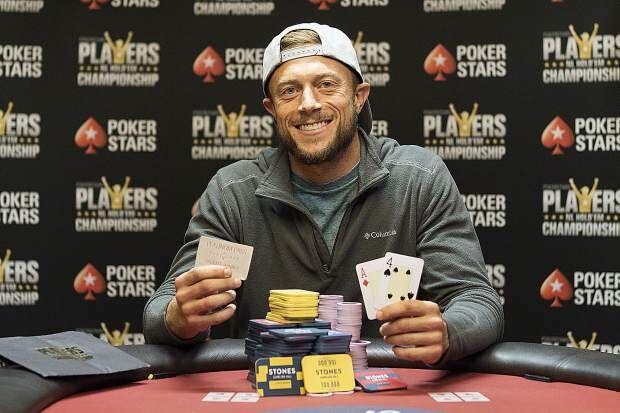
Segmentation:
<svg viewBox="0 0 620 413">
<path fill-rule="evenodd" d="M 314 321 L 318 316 L 319 293 L 306 290 L 269 291 L 267 320 L 284 324 Z"/>
</svg>

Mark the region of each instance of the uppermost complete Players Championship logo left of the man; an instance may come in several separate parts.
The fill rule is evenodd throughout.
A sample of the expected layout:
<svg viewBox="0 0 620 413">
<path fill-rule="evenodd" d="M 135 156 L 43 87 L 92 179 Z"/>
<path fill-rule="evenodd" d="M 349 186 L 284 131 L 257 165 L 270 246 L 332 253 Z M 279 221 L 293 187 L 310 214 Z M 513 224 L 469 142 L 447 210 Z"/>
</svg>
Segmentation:
<svg viewBox="0 0 620 413">
<path fill-rule="evenodd" d="M 152 87 L 159 81 L 157 42 L 134 40 L 134 33 L 113 38 L 80 37 L 78 43 L 78 86 Z"/>
</svg>

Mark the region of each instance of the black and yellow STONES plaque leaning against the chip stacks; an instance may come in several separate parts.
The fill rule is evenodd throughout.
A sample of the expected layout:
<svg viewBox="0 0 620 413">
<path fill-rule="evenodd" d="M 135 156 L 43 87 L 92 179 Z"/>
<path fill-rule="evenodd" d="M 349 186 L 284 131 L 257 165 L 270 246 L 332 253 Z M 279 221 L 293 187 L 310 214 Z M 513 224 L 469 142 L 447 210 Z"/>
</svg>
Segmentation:
<svg viewBox="0 0 620 413">
<path fill-rule="evenodd" d="M 269 357 L 256 360 L 256 392 L 259 396 L 306 394 L 301 357 Z"/>
</svg>

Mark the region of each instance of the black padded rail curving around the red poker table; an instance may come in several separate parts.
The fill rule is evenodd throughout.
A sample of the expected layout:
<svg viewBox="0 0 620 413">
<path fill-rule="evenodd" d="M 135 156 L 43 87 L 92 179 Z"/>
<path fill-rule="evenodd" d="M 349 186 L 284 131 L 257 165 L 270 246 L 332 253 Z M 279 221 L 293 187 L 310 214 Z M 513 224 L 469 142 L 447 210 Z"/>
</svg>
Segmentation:
<svg viewBox="0 0 620 413">
<path fill-rule="evenodd" d="M 149 374 L 188 374 L 245 370 L 244 342 L 210 340 L 191 348 L 163 345 L 121 346 L 151 365 L 132 372 L 44 379 L 23 368 L 0 367 L 0 412 L 39 412 L 75 393 L 145 380 Z M 368 346 L 371 367 L 430 368 L 394 357 L 383 341 Z M 620 391 L 620 355 L 535 343 L 506 342 L 442 366 L 445 370 L 529 376 Z"/>
</svg>

